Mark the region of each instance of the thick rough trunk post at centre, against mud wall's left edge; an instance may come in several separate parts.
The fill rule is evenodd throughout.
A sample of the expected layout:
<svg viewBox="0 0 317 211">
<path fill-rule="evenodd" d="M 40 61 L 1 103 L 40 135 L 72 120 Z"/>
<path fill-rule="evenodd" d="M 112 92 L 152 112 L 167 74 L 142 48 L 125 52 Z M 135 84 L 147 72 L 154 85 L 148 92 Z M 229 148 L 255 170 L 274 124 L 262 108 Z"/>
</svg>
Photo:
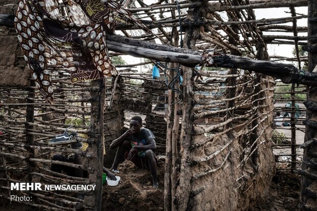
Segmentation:
<svg viewBox="0 0 317 211">
<path fill-rule="evenodd" d="M 206 0 L 193 1 L 189 3 L 201 2 L 208 3 Z M 191 8 L 188 10 L 187 18 L 189 20 L 200 20 L 204 17 L 205 11 L 203 6 L 201 8 Z M 200 26 L 189 26 L 186 28 L 184 38 L 184 48 L 193 49 L 195 43 L 200 35 Z M 180 173 L 179 173 L 179 186 L 176 192 L 177 210 L 185 211 L 190 209 L 190 193 L 191 178 L 192 178 L 192 151 L 190 149 L 193 142 L 193 116 L 194 116 L 194 69 L 184 68 L 184 81 L 183 81 L 183 118 L 182 129 L 180 132 Z"/>
</svg>

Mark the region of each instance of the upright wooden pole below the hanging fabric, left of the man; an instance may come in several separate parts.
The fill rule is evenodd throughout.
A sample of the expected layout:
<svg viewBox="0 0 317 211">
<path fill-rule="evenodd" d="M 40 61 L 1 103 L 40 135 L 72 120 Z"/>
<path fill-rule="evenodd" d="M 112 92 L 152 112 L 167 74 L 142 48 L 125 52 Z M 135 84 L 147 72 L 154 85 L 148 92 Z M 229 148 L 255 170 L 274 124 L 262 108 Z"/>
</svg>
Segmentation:
<svg viewBox="0 0 317 211">
<path fill-rule="evenodd" d="M 105 100 L 105 78 L 91 82 L 92 89 L 90 97 L 96 99 L 92 101 L 90 115 L 90 138 L 94 139 L 93 144 L 87 149 L 87 157 L 92 159 L 84 161 L 84 167 L 88 168 L 88 183 L 96 183 L 95 194 L 85 196 L 83 205 L 85 210 L 101 211 L 102 202 L 102 173 L 103 173 L 103 151 L 104 151 L 104 100 Z M 97 88 L 94 88 L 97 87 Z"/>
</svg>

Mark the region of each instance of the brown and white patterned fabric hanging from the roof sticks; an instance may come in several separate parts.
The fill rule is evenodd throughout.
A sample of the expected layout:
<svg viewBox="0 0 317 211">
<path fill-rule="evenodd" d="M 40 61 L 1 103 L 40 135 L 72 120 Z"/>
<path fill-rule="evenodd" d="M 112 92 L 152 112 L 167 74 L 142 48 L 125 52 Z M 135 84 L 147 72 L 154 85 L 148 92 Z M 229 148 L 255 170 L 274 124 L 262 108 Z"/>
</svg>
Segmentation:
<svg viewBox="0 0 317 211">
<path fill-rule="evenodd" d="M 105 41 L 105 33 L 114 33 L 117 15 L 150 32 L 112 1 L 19 1 L 14 20 L 18 40 L 35 84 L 48 102 L 53 102 L 50 71 L 68 69 L 73 82 L 118 74 Z"/>
</svg>

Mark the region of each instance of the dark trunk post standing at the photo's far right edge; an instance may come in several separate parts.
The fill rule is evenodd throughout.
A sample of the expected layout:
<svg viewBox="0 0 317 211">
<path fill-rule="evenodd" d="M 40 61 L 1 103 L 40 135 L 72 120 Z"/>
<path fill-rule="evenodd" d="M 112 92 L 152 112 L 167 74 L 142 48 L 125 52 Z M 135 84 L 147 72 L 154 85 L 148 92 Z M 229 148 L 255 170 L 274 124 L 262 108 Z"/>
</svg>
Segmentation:
<svg viewBox="0 0 317 211">
<path fill-rule="evenodd" d="M 317 2 L 315 0 L 308 0 L 308 46 L 315 46 L 317 44 Z M 317 52 L 308 53 L 308 72 L 312 72 L 317 65 Z M 309 86 L 307 93 L 307 100 L 316 103 L 317 101 L 317 87 Z M 315 210 L 317 207 L 317 169 L 314 163 L 317 162 L 317 144 L 313 140 L 317 138 L 317 130 L 315 123 L 317 121 L 317 110 L 308 104 L 307 108 L 305 138 L 304 138 L 304 156 L 302 162 L 301 196 L 300 196 L 300 210 Z"/>
</svg>

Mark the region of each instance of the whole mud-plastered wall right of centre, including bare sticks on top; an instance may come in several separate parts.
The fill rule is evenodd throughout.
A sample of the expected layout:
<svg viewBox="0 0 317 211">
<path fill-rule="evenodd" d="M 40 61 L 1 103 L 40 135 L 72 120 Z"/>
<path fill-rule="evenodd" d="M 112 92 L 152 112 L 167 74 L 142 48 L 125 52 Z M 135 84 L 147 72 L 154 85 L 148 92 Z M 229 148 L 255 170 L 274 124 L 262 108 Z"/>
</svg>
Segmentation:
<svg viewBox="0 0 317 211">
<path fill-rule="evenodd" d="M 240 89 L 245 82 L 248 84 Z M 271 77 L 242 74 L 237 80 L 239 89 L 233 108 L 215 100 L 215 95 L 195 93 L 194 99 L 200 105 L 194 107 L 196 120 L 189 156 L 182 157 L 189 169 L 183 180 L 190 181 L 186 210 L 247 210 L 267 191 L 276 171 L 270 126 L 274 84 Z M 220 85 L 195 87 L 213 93 L 212 89 L 219 92 L 215 87 Z M 211 106 L 201 105 L 208 100 Z M 180 183 L 178 194 L 184 188 Z"/>
</svg>

